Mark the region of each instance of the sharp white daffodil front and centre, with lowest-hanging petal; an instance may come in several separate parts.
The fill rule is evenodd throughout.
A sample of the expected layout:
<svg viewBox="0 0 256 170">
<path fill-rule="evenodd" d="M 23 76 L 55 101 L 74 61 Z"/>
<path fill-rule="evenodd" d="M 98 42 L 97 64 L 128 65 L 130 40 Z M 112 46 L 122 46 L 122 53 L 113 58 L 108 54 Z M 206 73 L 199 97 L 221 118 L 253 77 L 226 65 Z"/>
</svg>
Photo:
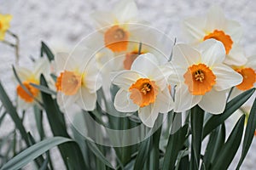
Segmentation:
<svg viewBox="0 0 256 170">
<path fill-rule="evenodd" d="M 119 86 L 114 98 L 117 111 L 135 112 L 143 124 L 153 127 L 160 113 L 172 110 L 173 101 L 166 77 L 153 54 L 141 54 L 131 65 L 131 70 L 120 71 L 113 77 Z"/>
</svg>

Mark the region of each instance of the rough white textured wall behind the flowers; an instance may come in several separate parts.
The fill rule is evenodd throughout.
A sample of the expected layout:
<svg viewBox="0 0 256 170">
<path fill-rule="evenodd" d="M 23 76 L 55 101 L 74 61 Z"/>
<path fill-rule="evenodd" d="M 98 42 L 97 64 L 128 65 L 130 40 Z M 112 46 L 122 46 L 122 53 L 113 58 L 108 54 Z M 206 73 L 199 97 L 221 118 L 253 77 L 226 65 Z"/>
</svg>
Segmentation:
<svg viewBox="0 0 256 170">
<path fill-rule="evenodd" d="M 20 65 L 31 65 L 29 56 L 35 58 L 39 55 L 41 40 L 47 42 L 49 47 L 55 50 L 69 51 L 80 39 L 94 31 L 89 14 L 96 9 L 111 9 L 114 1 L 103 0 L 2 0 L 0 1 L 0 13 L 12 14 L 11 31 L 20 36 Z M 174 1 L 174 0 L 137 0 L 141 16 L 152 25 L 166 31 L 171 37 L 177 37 L 177 42 L 183 42 L 180 32 L 180 20 L 185 17 L 206 14 L 211 2 L 204 1 Z M 241 41 L 247 55 L 256 54 L 256 2 L 218 0 L 215 1 L 224 8 L 224 12 L 231 20 L 237 20 L 244 29 L 244 37 Z M 7 37 L 13 41 L 12 37 Z M 0 79 L 9 95 L 15 96 L 15 85 L 11 78 L 11 65 L 14 64 L 15 55 L 13 48 L 0 43 Z M 26 116 L 26 126 L 32 132 L 35 124 L 29 122 Z M 14 124 L 5 119 L 0 128 L 0 136 L 7 133 Z M 48 125 L 45 125 L 49 129 Z M 50 136 L 50 134 L 49 134 Z M 246 160 L 241 169 L 255 169 L 256 142 L 253 141 Z M 58 155 L 56 156 L 56 160 Z M 55 161 L 56 167 L 62 169 L 60 161 Z M 234 169 L 236 161 L 230 169 Z M 32 167 L 27 167 L 30 169 Z"/>
</svg>

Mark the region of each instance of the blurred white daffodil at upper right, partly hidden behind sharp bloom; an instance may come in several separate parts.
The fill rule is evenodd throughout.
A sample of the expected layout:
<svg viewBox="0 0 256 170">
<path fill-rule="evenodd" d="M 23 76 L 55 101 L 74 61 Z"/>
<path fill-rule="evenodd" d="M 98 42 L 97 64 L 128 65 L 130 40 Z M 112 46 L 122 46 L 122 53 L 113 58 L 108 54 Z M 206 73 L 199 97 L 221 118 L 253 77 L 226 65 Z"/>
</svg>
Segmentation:
<svg viewBox="0 0 256 170">
<path fill-rule="evenodd" d="M 247 58 L 239 44 L 242 29 L 238 22 L 228 20 L 218 6 L 212 6 L 206 17 L 194 17 L 183 21 L 186 39 L 191 43 L 213 38 L 224 44 L 227 65 L 244 65 Z"/>
</svg>

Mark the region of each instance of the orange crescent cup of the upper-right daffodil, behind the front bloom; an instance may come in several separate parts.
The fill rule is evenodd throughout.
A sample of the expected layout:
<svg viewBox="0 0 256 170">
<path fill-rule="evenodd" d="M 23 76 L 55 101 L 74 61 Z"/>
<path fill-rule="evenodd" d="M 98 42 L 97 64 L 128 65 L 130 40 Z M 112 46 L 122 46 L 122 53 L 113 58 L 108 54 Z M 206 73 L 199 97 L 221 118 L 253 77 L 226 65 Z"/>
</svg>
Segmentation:
<svg viewBox="0 0 256 170">
<path fill-rule="evenodd" d="M 212 33 L 208 34 L 204 37 L 204 41 L 210 38 L 214 38 L 224 44 L 224 48 L 226 50 L 226 54 L 230 53 L 230 49 L 232 48 L 233 41 L 231 37 L 224 33 L 224 31 L 214 30 Z"/>
</svg>

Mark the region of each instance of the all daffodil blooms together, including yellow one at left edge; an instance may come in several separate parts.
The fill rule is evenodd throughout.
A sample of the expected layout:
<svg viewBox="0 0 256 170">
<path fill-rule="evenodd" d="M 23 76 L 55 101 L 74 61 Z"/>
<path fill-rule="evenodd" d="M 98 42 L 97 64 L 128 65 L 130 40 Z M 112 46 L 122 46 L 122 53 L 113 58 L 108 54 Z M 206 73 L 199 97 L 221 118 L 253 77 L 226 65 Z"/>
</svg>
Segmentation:
<svg viewBox="0 0 256 170">
<path fill-rule="evenodd" d="M 241 26 L 226 19 L 219 7 L 210 8 L 204 18 L 184 20 L 189 43 L 173 48 L 172 41 L 161 42 L 163 38 L 139 19 L 133 1 L 122 0 L 111 12 L 97 11 L 91 18 L 99 28 L 96 40 L 81 53 L 57 54 L 52 63 L 62 110 L 74 103 L 84 111 L 95 110 L 96 92 L 106 91 L 112 82 L 119 87 L 113 99 L 115 109 L 137 112 L 143 124 L 153 127 L 159 113 L 188 111 L 195 105 L 220 114 L 230 88 L 247 90 L 255 85 L 256 57 L 245 56 Z M 8 21 L 0 15 L 0 38 Z M 26 104 L 40 100 L 38 89 L 30 83 L 38 84 L 42 73 L 49 76 L 49 62 L 41 59 L 35 65 L 33 71 L 17 68 L 26 87 L 18 85 L 17 94 Z M 106 65 L 108 71 L 102 69 Z"/>
</svg>

